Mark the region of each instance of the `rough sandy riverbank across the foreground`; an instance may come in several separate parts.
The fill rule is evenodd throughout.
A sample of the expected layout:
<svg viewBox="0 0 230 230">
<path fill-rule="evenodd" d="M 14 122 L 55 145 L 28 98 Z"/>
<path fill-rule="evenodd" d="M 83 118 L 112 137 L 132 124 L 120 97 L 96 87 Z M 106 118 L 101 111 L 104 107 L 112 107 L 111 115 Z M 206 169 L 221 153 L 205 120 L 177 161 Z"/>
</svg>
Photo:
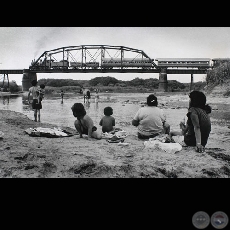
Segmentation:
<svg viewBox="0 0 230 230">
<path fill-rule="evenodd" d="M 216 96 L 213 99 L 220 101 Z M 173 113 L 177 116 L 178 110 Z M 221 110 L 213 111 L 215 119 L 204 153 L 197 153 L 194 147 L 167 153 L 145 148 L 144 141 L 137 138 L 136 128 L 130 125 L 123 127 L 128 134 L 125 138 L 128 144 L 123 146 L 106 139 L 88 140 L 87 136 L 80 139 L 68 127 L 62 128 L 73 136 L 32 137 L 25 132 L 27 128 L 53 128 L 54 125 L 34 122 L 18 112 L 0 110 L 0 131 L 4 133 L 0 139 L 0 177 L 229 178 L 230 129 L 221 114 Z"/>
</svg>

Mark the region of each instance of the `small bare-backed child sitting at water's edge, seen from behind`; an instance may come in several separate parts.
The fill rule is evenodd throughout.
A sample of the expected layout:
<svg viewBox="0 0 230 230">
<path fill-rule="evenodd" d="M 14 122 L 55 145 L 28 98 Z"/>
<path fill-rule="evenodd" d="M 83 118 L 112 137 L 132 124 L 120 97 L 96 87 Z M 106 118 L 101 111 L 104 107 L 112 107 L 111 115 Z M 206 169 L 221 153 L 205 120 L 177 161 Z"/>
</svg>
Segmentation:
<svg viewBox="0 0 230 230">
<path fill-rule="evenodd" d="M 111 132 L 115 126 L 115 118 L 113 115 L 113 109 L 108 106 L 104 108 L 104 117 L 99 122 L 99 125 L 102 126 L 102 132 Z"/>
</svg>

